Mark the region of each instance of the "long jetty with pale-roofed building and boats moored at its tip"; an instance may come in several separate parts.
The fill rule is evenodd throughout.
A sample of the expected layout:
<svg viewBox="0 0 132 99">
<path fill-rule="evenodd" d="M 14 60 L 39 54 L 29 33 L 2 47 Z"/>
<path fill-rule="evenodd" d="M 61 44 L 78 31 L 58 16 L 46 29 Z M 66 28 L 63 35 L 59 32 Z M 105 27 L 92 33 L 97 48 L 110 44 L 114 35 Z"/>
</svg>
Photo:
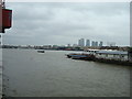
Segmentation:
<svg viewBox="0 0 132 99">
<path fill-rule="evenodd" d="M 89 50 L 87 53 L 72 53 L 66 56 L 72 59 L 132 66 L 132 61 L 130 61 L 129 53 L 123 51 Z"/>
</svg>

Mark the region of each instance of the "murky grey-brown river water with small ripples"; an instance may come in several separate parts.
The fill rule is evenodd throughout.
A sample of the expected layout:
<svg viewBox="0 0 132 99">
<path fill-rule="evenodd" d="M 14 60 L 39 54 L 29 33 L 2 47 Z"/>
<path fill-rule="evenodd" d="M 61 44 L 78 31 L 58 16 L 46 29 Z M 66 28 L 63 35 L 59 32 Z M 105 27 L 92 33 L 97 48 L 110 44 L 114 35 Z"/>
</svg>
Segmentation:
<svg viewBox="0 0 132 99">
<path fill-rule="evenodd" d="M 69 51 L 3 50 L 11 97 L 129 97 L 130 67 L 66 58 Z"/>
</svg>

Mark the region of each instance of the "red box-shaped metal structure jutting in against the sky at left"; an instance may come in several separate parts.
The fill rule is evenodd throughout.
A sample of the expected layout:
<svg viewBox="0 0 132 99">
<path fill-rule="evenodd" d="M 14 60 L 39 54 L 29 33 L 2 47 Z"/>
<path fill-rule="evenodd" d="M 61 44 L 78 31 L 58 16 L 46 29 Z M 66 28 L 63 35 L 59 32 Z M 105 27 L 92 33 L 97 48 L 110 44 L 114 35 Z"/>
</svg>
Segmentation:
<svg viewBox="0 0 132 99">
<path fill-rule="evenodd" d="M 12 10 L 6 9 L 4 1 L 2 2 L 2 33 L 6 29 L 10 29 L 12 24 Z"/>
</svg>

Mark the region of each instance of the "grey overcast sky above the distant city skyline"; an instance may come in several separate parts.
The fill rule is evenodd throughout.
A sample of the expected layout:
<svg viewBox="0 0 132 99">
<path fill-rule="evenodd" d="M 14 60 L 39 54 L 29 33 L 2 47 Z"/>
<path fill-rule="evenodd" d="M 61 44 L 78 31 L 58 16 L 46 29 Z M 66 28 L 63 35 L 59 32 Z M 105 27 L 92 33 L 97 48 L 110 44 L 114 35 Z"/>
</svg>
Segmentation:
<svg viewBox="0 0 132 99">
<path fill-rule="evenodd" d="M 88 38 L 130 45 L 129 2 L 10 2 L 7 8 L 13 23 L 3 44 L 67 45 Z"/>
</svg>

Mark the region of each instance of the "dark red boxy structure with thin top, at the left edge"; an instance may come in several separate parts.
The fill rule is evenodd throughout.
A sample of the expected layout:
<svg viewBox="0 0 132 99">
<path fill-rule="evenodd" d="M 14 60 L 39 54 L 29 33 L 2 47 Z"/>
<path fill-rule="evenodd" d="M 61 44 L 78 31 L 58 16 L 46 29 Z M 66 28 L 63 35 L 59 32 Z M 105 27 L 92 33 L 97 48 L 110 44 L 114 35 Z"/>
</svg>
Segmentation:
<svg viewBox="0 0 132 99">
<path fill-rule="evenodd" d="M 0 33 L 4 33 L 12 25 L 12 10 L 6 8 L 6 0 L 1 0 L 0 4 Z"/>
</svg>

